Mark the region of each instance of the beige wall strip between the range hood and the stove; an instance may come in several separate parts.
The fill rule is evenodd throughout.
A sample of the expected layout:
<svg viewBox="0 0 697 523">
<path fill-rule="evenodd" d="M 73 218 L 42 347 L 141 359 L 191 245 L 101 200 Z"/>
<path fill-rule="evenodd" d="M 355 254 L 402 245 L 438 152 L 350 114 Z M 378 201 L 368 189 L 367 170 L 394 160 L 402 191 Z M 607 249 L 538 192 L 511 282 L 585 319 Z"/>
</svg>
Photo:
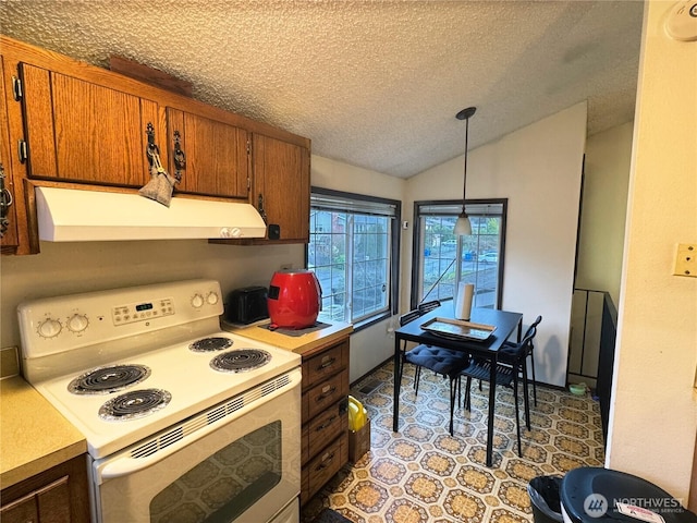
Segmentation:
<svg viewBox="0 0 697 523">
<path fill-rule="evenodd" d="M 303 267 L 303 245 L 212 245 L 206 240 L 41 242 L 33 256 L 0 260 L 0 342 L 19 346 L 16 306 L 23 300 L 189 278 L 213 278 L 223 293 L 268 285 L 281 265 Z"/>
</svg>

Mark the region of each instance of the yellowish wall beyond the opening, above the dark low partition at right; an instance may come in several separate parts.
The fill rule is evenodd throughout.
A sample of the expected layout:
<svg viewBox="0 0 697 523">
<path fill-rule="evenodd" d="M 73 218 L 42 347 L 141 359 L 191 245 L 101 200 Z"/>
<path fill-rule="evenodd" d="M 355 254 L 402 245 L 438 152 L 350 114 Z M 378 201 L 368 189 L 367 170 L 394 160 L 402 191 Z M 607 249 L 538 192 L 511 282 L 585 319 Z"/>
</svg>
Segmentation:
<svg viewBox="0 0 697 523">
<path fill-rule="evenodd" d="M 576 287 L 620 303 L 634 122 L 588 138 Z"/>
</svg>

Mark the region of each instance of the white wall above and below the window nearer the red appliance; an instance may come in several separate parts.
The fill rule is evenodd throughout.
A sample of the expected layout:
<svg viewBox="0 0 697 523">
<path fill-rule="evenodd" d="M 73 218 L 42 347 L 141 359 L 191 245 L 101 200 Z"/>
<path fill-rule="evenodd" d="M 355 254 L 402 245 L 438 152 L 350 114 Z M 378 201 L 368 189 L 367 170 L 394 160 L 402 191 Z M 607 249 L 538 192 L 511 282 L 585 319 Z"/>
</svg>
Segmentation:
<svg viewBox="0 0 697 523">
<path fill-rule="evenodd" d="M 313 156 L 310 180 L 313 186 L 399 200 L 404 198 L 406 184 L 404 180 L 399 178 L 320 156 Z M 404 207 L 402 207 L 402 212 L 404 212 Z M 404 257 L 404 250 L 402 252 Z M 411 251 L 406 256 L 411 256 Z M 400 280 L 401 288 L 404 289 L 405 280 L 408 283 L 408 273 L 405 276 L 402 272 Z M 355 381 L 394 353 L 394 337 L 389 332 L 393 321 L 393 319 L 380 321 L 351 337 L 351 381 Z"/>
</svg>

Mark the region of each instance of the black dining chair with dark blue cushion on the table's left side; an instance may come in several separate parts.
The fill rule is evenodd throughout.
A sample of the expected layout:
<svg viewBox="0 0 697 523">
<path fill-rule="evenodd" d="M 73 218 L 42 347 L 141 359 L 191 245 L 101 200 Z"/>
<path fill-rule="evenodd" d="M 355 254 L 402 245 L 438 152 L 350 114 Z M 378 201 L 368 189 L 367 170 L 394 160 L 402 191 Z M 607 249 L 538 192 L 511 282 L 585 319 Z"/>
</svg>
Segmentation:
<svg viewBox="0 0 697 523">
<path fill-rule="evenodd" d="M 437 303 L 433 305 L 433 303 Z M 425 304 L 423 304 L 425 305 Z M 440 302 L 429 302 L 423 308 L 409 311 L 400 316 L 400 327 L 414 321 L 426 313 L 437 308 Z M 399 382 L 402 382 L 404 365 L 408 363 L 415 366 L 414 393 L 418 396 L 418 386 L 421 377 L 421 368 L 428 368 L 436 374 L 447 377 L 450 381 L 450 435 L 453 435 L 453 414 L 455 411 L 455 394 L 460 373 L 469 364 L 469 355 L 461 351 L 451 351 L 440 346 L 419 344 L 413 349 L 407 348 L 406 340 L 402 345 L 402 365 L 400 365 Z"/>
</svg>

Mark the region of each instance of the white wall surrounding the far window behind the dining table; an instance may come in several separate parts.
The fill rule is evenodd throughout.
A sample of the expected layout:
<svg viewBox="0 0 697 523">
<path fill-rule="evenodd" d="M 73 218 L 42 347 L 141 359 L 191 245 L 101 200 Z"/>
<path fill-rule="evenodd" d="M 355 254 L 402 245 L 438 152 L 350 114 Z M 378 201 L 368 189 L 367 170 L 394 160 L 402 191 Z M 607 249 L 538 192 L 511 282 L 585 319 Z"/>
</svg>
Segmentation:
<svg viewBox="0 0 697 523">
<path fill-rule="evenodd" d="M 478 111 L 469 132 L 476 133 Z M 536 343 L 537 379 L 564 386 L 573 290 L 580 173 L 586 141 L 586 104 L 469 151 L 467 198 L 509 198 L 502 308 L 524 314 L 529 325 L 542 315 Z M 456 199 L 463 158 L 407 181 L 404 209 L 414 200 Z M 411 271 L 412 233 L 403 246 Z M 408 289 L 408 281 L 402 288 Z M 408 303 L 408 291 L 402 295 Z"/>
</svg>

